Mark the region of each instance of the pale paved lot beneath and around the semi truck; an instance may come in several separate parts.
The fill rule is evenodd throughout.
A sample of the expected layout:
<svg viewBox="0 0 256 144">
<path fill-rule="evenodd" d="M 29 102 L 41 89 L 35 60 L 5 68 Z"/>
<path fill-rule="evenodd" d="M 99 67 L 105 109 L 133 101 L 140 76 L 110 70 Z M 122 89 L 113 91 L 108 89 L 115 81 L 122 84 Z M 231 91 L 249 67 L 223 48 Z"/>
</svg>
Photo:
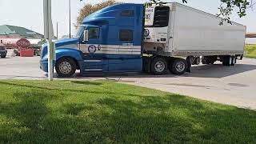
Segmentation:
<svg viewBox="0 0 256 144">
<path fill-rule="evenodd" d="M 0 79 L 47 79 L 46 73 L 39 69 L 39 59 L 0 58 Z M 77 76 L 72 79 L 109 79 L 256 110 L 256 59 L 244 58 L 236 66 L 230 67 L 222 66 L 221 63 L 193 66 L 192 73 L 181 76 L 111 74 L 98 77 Z"/>
</svg>

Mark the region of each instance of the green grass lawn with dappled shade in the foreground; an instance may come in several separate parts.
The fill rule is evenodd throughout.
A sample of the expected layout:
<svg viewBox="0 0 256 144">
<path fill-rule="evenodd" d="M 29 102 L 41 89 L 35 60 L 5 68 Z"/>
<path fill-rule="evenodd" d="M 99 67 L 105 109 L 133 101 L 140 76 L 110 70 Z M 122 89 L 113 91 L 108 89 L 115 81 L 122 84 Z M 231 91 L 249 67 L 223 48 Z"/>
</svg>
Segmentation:
<svg viewBox="0 0 256 144">
<path fill-rule="evenodd" d="M 256 111 L 115 82 L 0 81 L 0 143 L 256 143 Z"/>
</svg>

